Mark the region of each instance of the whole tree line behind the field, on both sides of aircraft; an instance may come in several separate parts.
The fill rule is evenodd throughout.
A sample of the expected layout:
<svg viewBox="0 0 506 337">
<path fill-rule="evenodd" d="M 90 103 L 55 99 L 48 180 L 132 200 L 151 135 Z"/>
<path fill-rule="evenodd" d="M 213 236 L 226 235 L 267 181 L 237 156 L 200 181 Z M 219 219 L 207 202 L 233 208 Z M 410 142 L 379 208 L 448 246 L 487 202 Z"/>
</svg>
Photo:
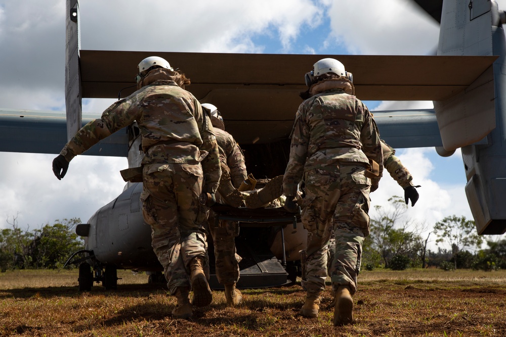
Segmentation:
<svg viewBox="0 0 506 337">
<path fill-rule="evenodd" d="M 476 233 L 475 223 L 464 216 L 448 216 L 428 234 L 428 225 L 403 216 L 407 205 L 401 197 L 389 199 L 389 207 L 376 206 L 371 233 L 365 239 L 362 268 L 441 268 L 496 270 L 506 268 L 506 239 L 493 241 Z M 38 229 L 22 230 L 17 217 L 0 231 L 0 270 L 62 268 L 76 251 L 84 249 L 75 233 L 79 218 L 56 220 Z M 427 236 L 425 236 L 427 235 Z M 436 239 L 437 251 L 427 248 Z M 482 249 L 483 242 L 487 248 Z M 450 247 L 441 248 L 440 245 Z M 70 265 L 69 268 L 74 267 Z"/>
</svg>

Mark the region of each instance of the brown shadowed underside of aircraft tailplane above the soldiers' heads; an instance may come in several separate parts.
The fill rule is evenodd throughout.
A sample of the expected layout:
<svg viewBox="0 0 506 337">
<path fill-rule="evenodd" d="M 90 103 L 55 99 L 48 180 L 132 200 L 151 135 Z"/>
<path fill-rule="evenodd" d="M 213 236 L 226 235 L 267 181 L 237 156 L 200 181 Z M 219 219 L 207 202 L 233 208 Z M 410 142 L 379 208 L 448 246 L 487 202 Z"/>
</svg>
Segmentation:
<svg viewBox="0 0 506 337">
<path fill-rule="evenodd" d="M 442 101 L 465 90 L 494 56 L 280 55 L 80 51 L 83 98 L 126 97 L 136 65 L 157 55 L 191 79 L 186 89 L 218 107 L 239 143 L 285 139 L 307 90 L 304 74 L 325 57 L 353 73 L 359 99 Z M 378 66 L 380 65 L 380 66 Z M 399 118 L 391 121 L 398 121 Z M 421 142 L 420 142 L 421 143 Z"/>
</svg>

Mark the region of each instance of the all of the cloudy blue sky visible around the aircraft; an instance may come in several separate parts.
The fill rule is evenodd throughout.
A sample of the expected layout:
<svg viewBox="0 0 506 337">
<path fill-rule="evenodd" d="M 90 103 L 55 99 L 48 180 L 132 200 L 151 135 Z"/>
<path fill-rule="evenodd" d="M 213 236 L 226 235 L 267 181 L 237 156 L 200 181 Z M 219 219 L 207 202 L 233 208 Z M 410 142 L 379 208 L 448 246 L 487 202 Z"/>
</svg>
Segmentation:
<svg viewBox="0 0 506 337">
<path fill-rule="evenodd" d="M 0 109 L 64 109 L 64 16 L 63 0 L 0 0 Z M 426 55 L 439 36 L 437 23 L 405 0 L 152 0 L 142 5 L 86 0 L 80 2 L 80 17 L 85 50 Z M 86 101 L 83 111 L 100 115 L 113 101 Z M 371 110 L 399 106 L 366 103 Z M 431 105 L 403 103 L 404 108 Z M 426 230 L 448 215 L 471 218 L 459 152 L 442 158 L 434 149 L 398 149 L 397 155 L 422 186 L 406 217 L 426 223 Z M 87 221 L 123 188 L 118 171 L 127 165 L 124 158 L 78 156 L 58 181 L 51 171 L 54 157 L 0 153 L 0 217 L 17 217 L 20 226 L 32 229 L 61 218 Z M 402 194 L 384 176 L 372 205 L 386 206 L 388 198 Z"/>
</svg>

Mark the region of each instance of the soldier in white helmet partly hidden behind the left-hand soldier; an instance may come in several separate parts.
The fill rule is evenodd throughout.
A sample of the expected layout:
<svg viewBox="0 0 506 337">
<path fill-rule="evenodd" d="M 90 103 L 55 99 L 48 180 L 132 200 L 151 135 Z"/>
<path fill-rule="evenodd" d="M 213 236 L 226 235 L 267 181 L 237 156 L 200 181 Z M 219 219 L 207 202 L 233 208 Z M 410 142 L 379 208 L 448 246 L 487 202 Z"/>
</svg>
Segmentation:
<svg viewBox="0 0 506 337">
<path fill-rule="evenodd" d="M 226 183 L 231 180 L 234 189 L 239 188 L 247 178 L 246 164 L 241 148 L 230 133 L 225 131 L 223 118 L 218 109 L 208 103 L 202 107 L 210 110 L 211 121 L 214 126 L 218 150 L 220 151 L 220 162 L 222 165 L 222 177 L 216 194 L 216 201 L 220 204 L 234 207 L 242 206 L 231 200 L 231 193 L 238 196 L 242 204 L 242 196 L 238 190 L 228 190 Z M 228 180 L 228 181 L 225 181 Z M 209 231 L 213 236 L 216 257 L 216 276 L 218 282 L 225 286 L 225 298 L 228 306 L 237 306 L 242 302 L 242 294 L 235 285 L 239 280 L 239 262 L 241 257 L 235 249 L 235 233 L 237 222 L 220 220 L 218 226 L 215 223 L 215 215 L 212 210 L 209 212 Z"/>
</svg>

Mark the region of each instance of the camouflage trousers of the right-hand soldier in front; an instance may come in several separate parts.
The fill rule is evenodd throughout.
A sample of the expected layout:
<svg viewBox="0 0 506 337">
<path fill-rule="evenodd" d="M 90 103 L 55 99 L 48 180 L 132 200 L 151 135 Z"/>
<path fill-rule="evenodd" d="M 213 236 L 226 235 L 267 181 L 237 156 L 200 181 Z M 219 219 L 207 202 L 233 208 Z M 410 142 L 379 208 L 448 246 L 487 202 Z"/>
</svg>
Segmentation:
<svg viewBox="0 0 506 337">
<path fill-rule="evenodd" d="M 357 291 L 362 243 L 369 234 L 370 179 L 361 165 L 335 165 L 305 173 L 306 197 L 302 223 L 308 230 L 303 255 L 302 286 L 309 293 L 325 287 L 330 237 L 336 238 L 335 254 L 330 266 L 332 287 L 350 287 Z M 304 261 L 305 260 L 305 261 Z"/>
</svg>

